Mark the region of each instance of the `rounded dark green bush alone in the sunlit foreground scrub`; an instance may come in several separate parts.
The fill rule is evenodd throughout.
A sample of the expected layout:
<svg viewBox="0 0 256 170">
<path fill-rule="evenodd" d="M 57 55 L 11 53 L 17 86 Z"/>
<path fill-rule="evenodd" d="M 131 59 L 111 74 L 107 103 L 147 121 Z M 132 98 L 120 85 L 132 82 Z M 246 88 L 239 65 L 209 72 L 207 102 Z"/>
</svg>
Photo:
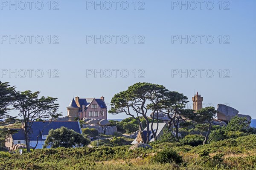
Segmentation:
<svg viewBox="0 0 256 170">
<path fill-rule="evenodd" d="M 167 147 L 163 150 L 157 152 L 151 158 L 154 163 L 175 163 L 181 164 L 183 162 L 182 156 L 177 153 L 175 150 L 172 150 L 170 147 Z"/>
</svg>

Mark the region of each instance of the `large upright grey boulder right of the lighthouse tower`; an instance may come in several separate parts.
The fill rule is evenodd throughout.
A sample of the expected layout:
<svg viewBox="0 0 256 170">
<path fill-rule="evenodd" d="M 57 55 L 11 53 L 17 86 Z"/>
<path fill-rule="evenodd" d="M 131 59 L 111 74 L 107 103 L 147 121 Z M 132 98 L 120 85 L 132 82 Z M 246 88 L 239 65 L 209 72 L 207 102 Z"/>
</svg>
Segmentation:
<svg viewBox="0 0 256 170">
<path fill-rule="evenodd" d="M 230 121 L 231 118 L 238 115 L 238 110 L 224 104 L 218 104 L 217 111 L 218 120 L 225 122 Z"/>
</svg>

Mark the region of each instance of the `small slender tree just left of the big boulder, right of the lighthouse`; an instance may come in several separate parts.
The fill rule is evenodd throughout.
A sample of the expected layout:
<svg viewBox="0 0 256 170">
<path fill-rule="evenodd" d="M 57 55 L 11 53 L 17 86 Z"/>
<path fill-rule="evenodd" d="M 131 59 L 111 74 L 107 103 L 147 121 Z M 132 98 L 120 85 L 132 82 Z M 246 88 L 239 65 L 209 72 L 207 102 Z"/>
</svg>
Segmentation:
<svg viewBox="0 0 256 170">
<path fill-rule="evenodd" d="M 207 131 L 206 135 L 203 136 L 204 137 L 203 144 L 207 144 L 209 135 L 212 130 L 213 121 L 216 118 L 216 113 L 217 113 L 217 110 L 215 110 L 214 107 L 206 107 L 197 111 L 197 114 L 198 114 L 197 122 L 202 124 L 201 129 L 205 129 Z"/>
</svg>

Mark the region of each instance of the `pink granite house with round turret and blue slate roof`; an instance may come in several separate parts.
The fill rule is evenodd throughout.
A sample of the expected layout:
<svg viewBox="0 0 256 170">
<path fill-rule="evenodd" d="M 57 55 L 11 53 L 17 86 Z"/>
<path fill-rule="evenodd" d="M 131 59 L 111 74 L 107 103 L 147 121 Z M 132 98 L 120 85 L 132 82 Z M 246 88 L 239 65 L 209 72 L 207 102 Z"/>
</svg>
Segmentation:
<svg viewBox="0 0 256 170">
<path fill-rule="evenodd" d="M 76 101 L 73 98 L 70 105 L 67 107 L 67 115 L 70 117 L 70 120 L 74 120 L 76 117 L 80 120 L 83 118 L 107 119 L 107 106 L 104 97 L 76 97 Z"/>
</svg>

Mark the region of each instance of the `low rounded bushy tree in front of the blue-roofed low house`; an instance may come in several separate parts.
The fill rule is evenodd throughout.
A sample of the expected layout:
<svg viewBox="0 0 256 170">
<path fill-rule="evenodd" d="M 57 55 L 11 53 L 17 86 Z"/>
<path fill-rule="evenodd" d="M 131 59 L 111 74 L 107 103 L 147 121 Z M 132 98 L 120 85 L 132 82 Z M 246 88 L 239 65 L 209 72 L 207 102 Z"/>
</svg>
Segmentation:
<svg viewBox="0 0 256 170">
<path fill-rule="evenodd" d="M 59 129 L 50 130 L 45 140 L 44 148 L 50 146 L 57 147 L 84 147 L 90 144 L 90 140 L 74 130 L 61 127 Z"/>
</svg>

